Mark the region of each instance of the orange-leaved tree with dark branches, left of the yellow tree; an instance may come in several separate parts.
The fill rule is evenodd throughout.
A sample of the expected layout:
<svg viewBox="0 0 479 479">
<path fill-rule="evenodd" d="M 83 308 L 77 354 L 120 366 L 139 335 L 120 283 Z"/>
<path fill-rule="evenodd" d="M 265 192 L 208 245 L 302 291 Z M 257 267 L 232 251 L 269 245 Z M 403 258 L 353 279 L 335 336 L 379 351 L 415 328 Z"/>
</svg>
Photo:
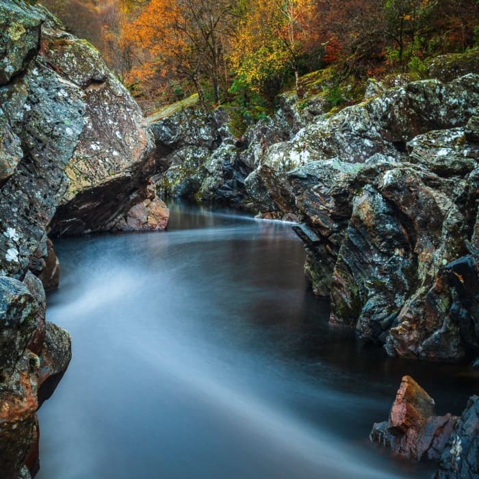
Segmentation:
<svg viewBox="0 0 479 479">
<path fill-rule="evenodd" d="M 156 77 L 190 81 L 205 108 L 203 79 L 211 82 L 213 101 L 220 102 L 228 68 L 224 48 L 233 33 L 233 0 L 151 0 L 123 31 L 123 42 L 135 47 L 129 79 Z"/>
</svg>

